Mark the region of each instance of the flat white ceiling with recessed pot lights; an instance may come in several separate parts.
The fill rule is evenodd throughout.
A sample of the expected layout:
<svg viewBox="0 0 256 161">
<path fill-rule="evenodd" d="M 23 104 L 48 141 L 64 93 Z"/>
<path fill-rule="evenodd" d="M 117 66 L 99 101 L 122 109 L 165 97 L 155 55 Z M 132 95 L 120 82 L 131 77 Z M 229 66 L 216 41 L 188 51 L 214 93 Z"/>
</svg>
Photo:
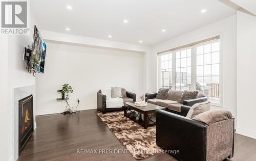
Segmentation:
<svg viewBox="0 0 256 161">
<path fill-rule="evenodd" d="M 39 30 L 143 45 L 155 45 L 236 14 L 218 0 L 36 0 L 30 3 Z M 67 5 L 73 9 L 68 10 Z M 202 9 L 207 11 L 201 13 Z M 123 23 L 124 19 L 128 23 Z"/>
</svg>

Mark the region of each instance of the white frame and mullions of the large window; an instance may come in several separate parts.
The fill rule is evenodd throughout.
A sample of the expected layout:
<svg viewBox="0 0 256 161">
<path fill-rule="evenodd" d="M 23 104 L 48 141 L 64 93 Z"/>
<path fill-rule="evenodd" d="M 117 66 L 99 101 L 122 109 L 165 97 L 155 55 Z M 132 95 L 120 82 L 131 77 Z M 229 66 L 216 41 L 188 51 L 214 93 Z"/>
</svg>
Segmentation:
<svg viewBox="0 0 256 161">
<path fill-rule="evenodd" d="M 222 89 L 222 78 L 223 78 L 223 75 L 222 75 L 222 69 L 223 69 L 223 65 L 222 65 L 222 58 L 223 58 L 223 55 L 222 55 L 222 39 L 221 39 L 221 34 L 218 34 L 216 36 L 219 36 L 219 41 L 220 41 L 220 57 L 219 57 L 219 94 L 220 94 L 220 98 L 219 98 L 219 101 L 218 102 L 211 102 L 212 105 L 215 105 L 215 106 L 222 106 L 222 98 L 223 98 L 223 89 Z M 166 55 L 168 53 L 173 53 L 173 58 L 172 58 L 172 84 L 173 84 L 173 87 L 172 89 L 173 90 L 176 90 L 176 51 L 181 51 L 181 50 L 184 50 L 184 49 L 188 49 L 188 48 L 191 48 L 191 90 L 196 90 L 196 79 L 197 79 L 197 53 L 196 53 L 196 49 L 198 46 L 202 46 L 204 44 L 209 44 L 209 43 L 212 43 L 216 41 L 215 40 L 210 40 L 210 41 L 206 41 L 206 42 L 203 42 L 203 43 L 199 43 L 199 44 L 196 44 L 196 45 L 193 45 L 193 46 L 188 46 L 188 47 L 184 47 L 184 48 L 179 48 L 179 49 L 176 49 L 176 50 L 173 50 L 173 51 L 168 51 L 168 52 L 164 52 L 164 53 L 161 53 L 161 54 L 158 54 L 157 55 L 157 76 L 158 76 L 158 81 L 157 81 L 157 88 L 161 88 L 161 85 L 160 85 L 160 72 L 161 72 L 161 59 L 160 57 L 163 56 L 163 55 Z M 213 100 L 213 99 L 210 99 L 209 100 Z M 216 100 L 215 100 L 216 101 Z"/>
</svg>

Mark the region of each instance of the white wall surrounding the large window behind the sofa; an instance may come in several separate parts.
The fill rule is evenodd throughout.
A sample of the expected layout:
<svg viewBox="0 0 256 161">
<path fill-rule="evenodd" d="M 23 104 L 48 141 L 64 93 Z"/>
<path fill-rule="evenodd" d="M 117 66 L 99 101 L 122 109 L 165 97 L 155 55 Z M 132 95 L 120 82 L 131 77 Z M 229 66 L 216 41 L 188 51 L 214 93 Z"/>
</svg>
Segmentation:
<svg viewBox="0 0 256 161">
<path fill-rule="evenodd" d="M 157 52 L 221 35 L 221 92 L 222 106 L 237 116 L 236 89 L 236 15 L 204 26 L 198 30 L 178 36 L 153 46 L 150 63 L 152 64 L 152 92 L 157 90 Z"/>
</svg>

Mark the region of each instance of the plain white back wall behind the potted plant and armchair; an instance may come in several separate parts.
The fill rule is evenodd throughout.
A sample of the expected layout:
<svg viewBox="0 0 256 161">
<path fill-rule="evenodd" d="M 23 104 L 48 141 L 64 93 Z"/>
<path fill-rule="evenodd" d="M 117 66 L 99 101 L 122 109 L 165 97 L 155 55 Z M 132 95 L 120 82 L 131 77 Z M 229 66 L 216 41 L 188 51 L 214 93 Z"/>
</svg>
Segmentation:
<svg viewBox="0 0 256 161">
<path fill-rule="evenodd" d="M 61 85 L 74 89 L 70 105 L 80 98 L 80 110 L 96 109 L 100 89 L 123 87 L 142 93 L 143 53 L 47 43 L 45 73 L 36 76 L 36 114 L 59 113 L 65 101 L 57 101 Z"/>
</svg>

